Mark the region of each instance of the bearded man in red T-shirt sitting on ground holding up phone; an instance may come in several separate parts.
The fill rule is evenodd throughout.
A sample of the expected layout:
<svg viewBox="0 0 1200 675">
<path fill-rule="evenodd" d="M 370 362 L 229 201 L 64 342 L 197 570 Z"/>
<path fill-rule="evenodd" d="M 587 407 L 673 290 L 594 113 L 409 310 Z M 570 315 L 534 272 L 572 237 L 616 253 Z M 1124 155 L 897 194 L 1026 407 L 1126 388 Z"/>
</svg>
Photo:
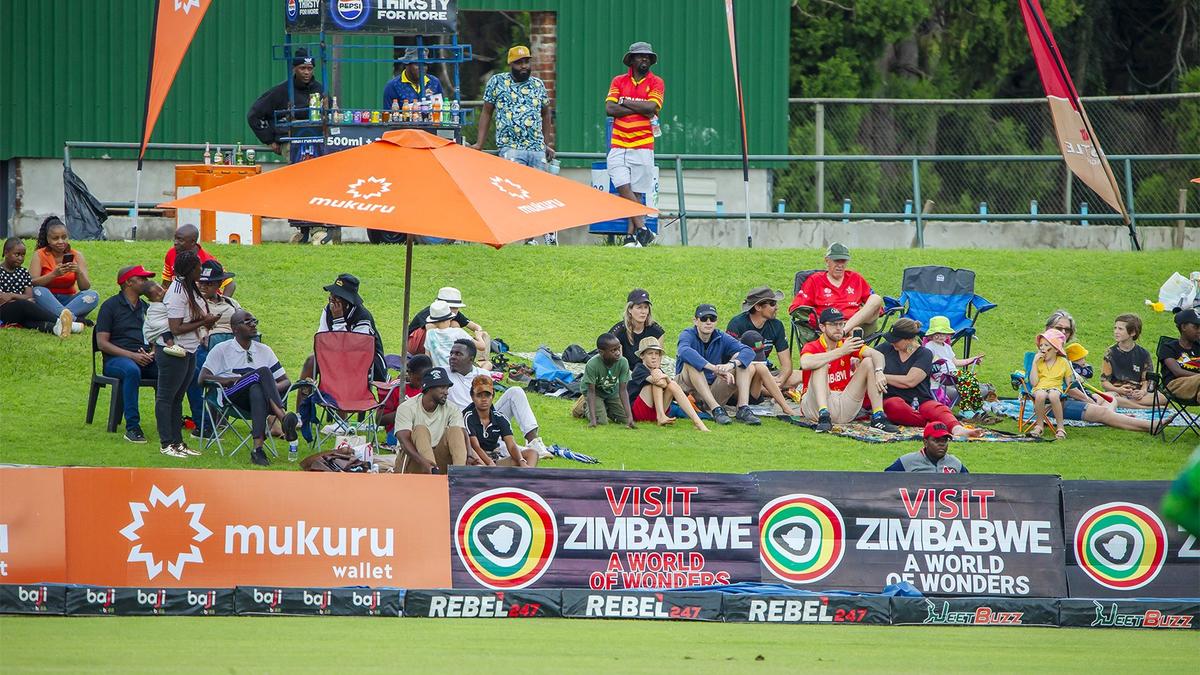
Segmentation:
<svg viewBox="0 0 1200 675">
<path fill-rule="evenodd" d="M 817 420 L 817 431 L 830 431 L 835 422 L 853 422 L 863 410 L 863 399 L 869 399 L 871 428 L 899 431 L 883 414 L 883 393 L 888 388 L 883 354 L 864 345 L 862 338 L 842 340 L 846 317 L 834 307 L 821 312 L 817 325 L 821 335 L 800 350 L 804 417 Z"/>
</svg>

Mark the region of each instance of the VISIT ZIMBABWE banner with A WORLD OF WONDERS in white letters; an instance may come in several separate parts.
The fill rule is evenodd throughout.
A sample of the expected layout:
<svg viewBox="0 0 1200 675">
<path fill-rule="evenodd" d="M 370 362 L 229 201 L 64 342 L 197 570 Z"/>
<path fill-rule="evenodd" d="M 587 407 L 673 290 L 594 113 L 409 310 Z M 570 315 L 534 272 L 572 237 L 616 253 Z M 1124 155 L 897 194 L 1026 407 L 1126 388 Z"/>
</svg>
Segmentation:
<svg viewBox="0 0 1200 675">
<path fill-rule="evenodd" d="M 760 472 L 763 581 L 1060 597 L 1055 476 Z"/>
</svg>

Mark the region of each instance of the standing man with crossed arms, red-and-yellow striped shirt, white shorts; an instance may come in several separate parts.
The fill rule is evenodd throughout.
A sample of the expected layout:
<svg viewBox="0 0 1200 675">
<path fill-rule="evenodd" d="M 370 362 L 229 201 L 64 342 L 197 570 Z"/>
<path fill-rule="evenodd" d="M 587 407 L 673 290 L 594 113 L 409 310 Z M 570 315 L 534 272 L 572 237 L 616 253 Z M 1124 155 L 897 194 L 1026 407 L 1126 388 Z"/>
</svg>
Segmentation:
<svg viewBox="0 0 1200 675">
<path fill-rule="evenodd" d="M 635 42 L 625 53 L 629 72 L 612 78 L 605 97 L 605 114 L 613 118 L 612 141 L 608 145 L 608 180 L 617 192 L 641 203 L 654 189 L 654 126 L 662 108 L 662 78 L 650 72 L 659 55 L 649 42 Z M 647 246 L 654 233 L 646 227 L 646 219 L 629 219 L 625 245 Z"/>
</svg>

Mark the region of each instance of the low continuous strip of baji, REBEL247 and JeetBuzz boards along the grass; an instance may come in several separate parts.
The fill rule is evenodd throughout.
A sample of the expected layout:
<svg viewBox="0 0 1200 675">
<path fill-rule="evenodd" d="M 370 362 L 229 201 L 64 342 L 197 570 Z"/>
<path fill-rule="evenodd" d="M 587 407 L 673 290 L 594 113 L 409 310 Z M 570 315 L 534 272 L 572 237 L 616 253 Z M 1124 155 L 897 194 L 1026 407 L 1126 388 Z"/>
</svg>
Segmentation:
<svg viewBox="0 0 1200 675">
<path fill-rule="evenodd" d="M 137 589 L 0 585 L 0 614 L 637 619 L 726 623 L 1200 629 L 1200 599 L 962 598 L 719 591 Z"/>
</svg>

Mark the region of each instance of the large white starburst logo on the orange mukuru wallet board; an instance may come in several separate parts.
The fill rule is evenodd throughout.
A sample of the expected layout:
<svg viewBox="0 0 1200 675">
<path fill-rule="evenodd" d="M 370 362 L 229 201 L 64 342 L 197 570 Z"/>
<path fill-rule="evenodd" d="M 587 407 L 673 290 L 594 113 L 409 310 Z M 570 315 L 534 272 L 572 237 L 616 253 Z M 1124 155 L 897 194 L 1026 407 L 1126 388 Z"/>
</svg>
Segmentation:
<svg viewBox="0 0 1200 675">
<path fill-rule="evenodd" d="M 200 522 L 204 514 L 204 504 L 187 503 L 187 495 L 184 486 L 175 488 L 175 491 L 166 495 L 157 485 L 150 488 L 150 498 L 145 502 L 130 502 L 130 515 L 132 520 L 121 528 L 121 536 L 134 542 L 130 549 L 127 562 L 144 562 L 146 566 L 146 578 L 154 579 L 162 573 L 163 563 L 167 572 L 175 579 L 184 575 L 184 566 L 188 562 L 202 563 L 204 556 L 196 545 L 212 536 L 212 531 Z M 191 518 L 184 520 L 182 515 Z M 143 540 L 142 527 L 150 520 L 146 527 L 152 532 L 148 539 Z M 175 522 L 173 524 L 172 520 Z M 173 527 L 175 525 L 175 527 Z M 190 531 L 188 531 L 190 530 Z M 187 539 L 180 539 L 179 532 L 184 532 Z"/>
</svg>

